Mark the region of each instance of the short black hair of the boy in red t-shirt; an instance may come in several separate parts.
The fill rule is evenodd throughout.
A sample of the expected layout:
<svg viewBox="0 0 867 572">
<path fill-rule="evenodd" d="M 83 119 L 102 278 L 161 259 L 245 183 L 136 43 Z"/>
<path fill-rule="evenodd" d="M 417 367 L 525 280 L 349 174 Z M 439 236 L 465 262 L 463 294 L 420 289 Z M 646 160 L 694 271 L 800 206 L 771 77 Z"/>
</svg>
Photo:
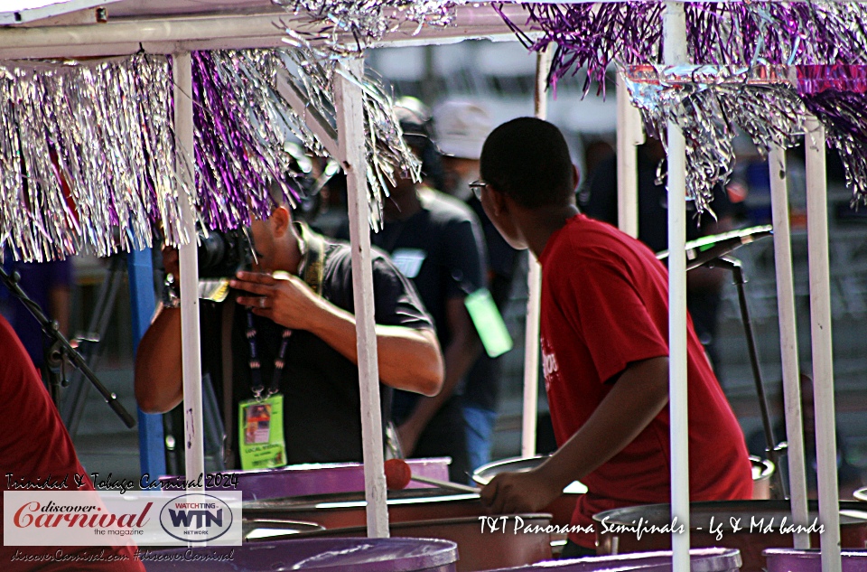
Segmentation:
<svg viewBox="0 0 867 572">
<path fill-rule="evenodd" d="M 481 149 L 481 178 L 528 209 L 568 201 L 574 192 L 572 168 L 560 129 L 536 117 L 497 127 Z"/>
</svg>

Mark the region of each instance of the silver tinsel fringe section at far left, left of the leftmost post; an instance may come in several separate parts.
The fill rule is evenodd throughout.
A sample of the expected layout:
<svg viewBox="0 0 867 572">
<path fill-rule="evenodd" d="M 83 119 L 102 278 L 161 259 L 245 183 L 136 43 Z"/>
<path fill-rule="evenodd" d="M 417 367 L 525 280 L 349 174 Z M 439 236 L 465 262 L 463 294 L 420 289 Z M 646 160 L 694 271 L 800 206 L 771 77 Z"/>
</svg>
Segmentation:
<svg viewBox="0 0 867 572">
<path fill-rule="evenodd" d="M 0 247 L 107 256 L 149 246 L 151 220 L 179 228 L 165 58 L 0 71 Z"/>
</svg>

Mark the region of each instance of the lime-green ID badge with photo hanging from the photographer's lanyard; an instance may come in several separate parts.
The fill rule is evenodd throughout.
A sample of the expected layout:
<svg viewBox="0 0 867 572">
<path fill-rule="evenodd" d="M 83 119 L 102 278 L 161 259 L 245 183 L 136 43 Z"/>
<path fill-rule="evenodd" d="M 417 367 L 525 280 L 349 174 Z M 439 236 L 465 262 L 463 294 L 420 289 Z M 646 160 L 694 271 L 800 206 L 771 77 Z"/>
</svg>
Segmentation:
<svg viewBox="0 0 867 572">
<path fill-rule="evenodd" d="M 272 469 L 286 464 L 283 436 L 283 396 L 238 403 L 238 443 L 241 468 Z"/>
</svg>

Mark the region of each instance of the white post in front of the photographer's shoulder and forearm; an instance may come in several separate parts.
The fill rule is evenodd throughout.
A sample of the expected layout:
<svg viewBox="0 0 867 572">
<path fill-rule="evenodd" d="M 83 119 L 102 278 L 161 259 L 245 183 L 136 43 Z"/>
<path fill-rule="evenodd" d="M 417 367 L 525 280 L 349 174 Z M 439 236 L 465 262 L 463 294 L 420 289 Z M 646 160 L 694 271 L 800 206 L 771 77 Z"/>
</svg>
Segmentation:
<svg viewBox="0 0 867 572">
<path fill-rule="evenodd" d="M 364 62 L 340 64 L 342 73 L 361 78 Z M 343 75 L 336 76 L 334 102 L 340 160 L 346 172 L 352 244 L 352 289 L 358 333 L 359 384 L 361 389 L 361 438 L 364 455 L 364 491 L 368 502 L 368 537 L 388 538 L 385 458 L 382 414 L 379 407 L 379 367 L 374 321 L 373 266 L 370 258 L 367 157 L 364 140 L 364 108 L 359 86 Z"/>
</svg>

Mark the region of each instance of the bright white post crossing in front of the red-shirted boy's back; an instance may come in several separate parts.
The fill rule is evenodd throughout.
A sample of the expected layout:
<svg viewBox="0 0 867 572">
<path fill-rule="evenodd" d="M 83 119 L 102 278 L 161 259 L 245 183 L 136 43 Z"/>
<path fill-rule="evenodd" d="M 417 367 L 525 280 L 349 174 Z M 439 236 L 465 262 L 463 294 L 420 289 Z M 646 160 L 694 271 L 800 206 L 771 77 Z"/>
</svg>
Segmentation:
<svg viewBox="0 0 867 572">
<path fill-rule="evenodd" d="M 687 63 L 684 5 L 668 0 L 663 44 L 667 65 Z M 689 572 L 689 419 L 686 399 L 686 145 L 675 122 L 668 123 L 668 408 L 671 419 L 671 518 L 684 526 L 672 532 L 672 569 Z"/>
</svg>

